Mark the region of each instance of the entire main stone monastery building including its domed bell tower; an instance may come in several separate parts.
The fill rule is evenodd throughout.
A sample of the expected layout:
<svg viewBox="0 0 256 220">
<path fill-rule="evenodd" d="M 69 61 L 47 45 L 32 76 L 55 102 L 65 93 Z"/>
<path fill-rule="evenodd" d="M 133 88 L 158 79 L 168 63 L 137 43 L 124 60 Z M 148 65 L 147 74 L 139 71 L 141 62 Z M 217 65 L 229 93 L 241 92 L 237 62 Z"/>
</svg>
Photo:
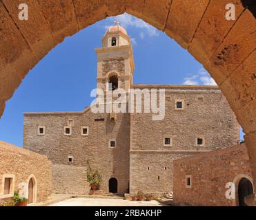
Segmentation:
<svg viewBox="0 0 256 220">
<path fill-rule="evenodd" d="M 114 36 L 123 39 L 123 44 L 107 46 Z M 98 89 L 107 92 L 106 83 L 111 76 L 117 76 L 118 88 L 124 93 L 130 89 L 165 89 L 165 117 L 153 121 L 152 113 L 115 113 L 112 120 L 111 113 L 92 113 L 90 107 L 81 112 L 25 113 L 23 146 L 47 155 L 59 165 L 53 172 L 58 175 L 53 177 L 57 192 L 72 192 L 68 186 L 79 173 L 76 168 L 65 173 L 62 165 L 86 170 L 87 161 L 103 175 L 104 192 L 108 192 L 112 177 L 118 181 L 119 193 L 171 192 L 174 159 L 213 151 L 239 140 L 239 125 L 218 87 L 132 85 L 132 46 L 124 31 L 109 31 L 103 47 L 96 52 Z M 177 100 L 182 100 L 182 109 L 175 107 Z M 69 135 L 64 134 L 66 126 L 70 128 Z M 83 126 L 88 127 L 88 135 L 81 135 Z M 38 133 L 40 127 L 43 134 Z M 170 138 L 172 144 L 165 146 L 165 138 Z M 197 138 L 204 144 L 197 146 Z M 114 148 L 110 147 L 112 140 Z M 68 162 L 69 157 L 72 162 Z M 69 182 L 63 184 L 61 175 Z M 74 190 L 83 194 L 88 187 L 76 186 Z"/>
</svg>

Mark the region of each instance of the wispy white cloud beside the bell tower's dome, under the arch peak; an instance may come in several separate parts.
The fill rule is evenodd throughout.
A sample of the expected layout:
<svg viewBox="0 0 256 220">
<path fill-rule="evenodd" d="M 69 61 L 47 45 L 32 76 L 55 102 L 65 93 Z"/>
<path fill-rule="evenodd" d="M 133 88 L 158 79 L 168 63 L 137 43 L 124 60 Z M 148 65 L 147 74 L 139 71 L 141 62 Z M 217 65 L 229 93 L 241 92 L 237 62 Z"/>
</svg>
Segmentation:
<svg viewBox="0 0 256 220">
<path fill-rule="evenodd" d="M 154 28 L 152 25 L 146 23 L 145 21 L 141 19 L 137 19 L 136 17 L 132 17 L 132 15 L 124 13 L 121 15 L 118 15 L 116 17 L 111 17 L 111 21 L 119 21 L 120 25 L 124 28 L 139 28 L 144 30 L 148 34 L 148 36 L 159 36 L 159 33 L 157 32 L 157 29 Z M 110 26 L 105 26 L 105 28 L 109 28 Z M 140 34 L 141 39 L 144 38 L 144 32 L 141 32 Z"/>
</svg>

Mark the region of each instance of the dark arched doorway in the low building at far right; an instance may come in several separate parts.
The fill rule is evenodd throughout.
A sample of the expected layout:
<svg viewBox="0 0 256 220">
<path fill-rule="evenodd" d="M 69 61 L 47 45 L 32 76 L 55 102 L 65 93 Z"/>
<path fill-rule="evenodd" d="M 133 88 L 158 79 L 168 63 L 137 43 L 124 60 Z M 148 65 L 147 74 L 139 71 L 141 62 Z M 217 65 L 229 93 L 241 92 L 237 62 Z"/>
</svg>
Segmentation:
<svg viewBox="0 0 256 220">
<path fill-rule="evenodd" d="M 253 194 L 253 184 L 247 178 L 242 178 L 238 184 L 238 199 L 239 206 L 247 206 L 244 202 L 244 198 Z"/>
</svg>

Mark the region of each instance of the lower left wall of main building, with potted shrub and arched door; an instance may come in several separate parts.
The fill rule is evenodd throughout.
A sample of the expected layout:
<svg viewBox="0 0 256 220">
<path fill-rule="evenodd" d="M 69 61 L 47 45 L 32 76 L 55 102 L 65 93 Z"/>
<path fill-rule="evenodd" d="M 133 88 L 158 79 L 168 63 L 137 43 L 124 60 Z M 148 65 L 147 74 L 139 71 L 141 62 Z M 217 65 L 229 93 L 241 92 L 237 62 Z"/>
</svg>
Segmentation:
<svg viewBox="0 0 256 220">
<path fill-rule="evenodd" d="M 104 118 L 104 121 L 95 119 Z M 72 134 L 64 135 L 63 128 L 73 120 Z M 45 135 L 37 135 L 37 127 L 45 126 Z M 88 126 L 88 135 L 81 135 L 81 126 Z M 109 113 L 63 113 L 35 114 L 24 117 L 24 147 L 47 155 L 52 164 L 86 167 L 90 162 L 92 170 L 98 170 L 103 177 L 101 189 L 108 192 L 108 180 L 118 179 L 118 192 L 125 193 L 129 182 L 130 115 L 117 114 L 115 122 L 110 121 Z M 116 147 L 110 148 L 110 140 L 116 140 Z M 73 162 L 68 162 L 68 156 Z M 70 168 L 71 169 L 71 168 Z M 55 175 L 56 172 L 53 173 Z M 67 170 L 68 173 L 68 170 Z M 66 174 L 63 174 L 63 179 Z M 77 173 L 70 173 L 70 179 Z M 59 177 L 60 178 L 60 177 Z M 56 179 L 53 177 L 53 179 Z M 67 183 L 71 186 L 71 183 Z M 62 185 L 55 188 L 61 190 Z M 84 189 L 79 187 L 83 194 Z M 66 190 L 65 187 L 62 189 Z"/>
</svg>

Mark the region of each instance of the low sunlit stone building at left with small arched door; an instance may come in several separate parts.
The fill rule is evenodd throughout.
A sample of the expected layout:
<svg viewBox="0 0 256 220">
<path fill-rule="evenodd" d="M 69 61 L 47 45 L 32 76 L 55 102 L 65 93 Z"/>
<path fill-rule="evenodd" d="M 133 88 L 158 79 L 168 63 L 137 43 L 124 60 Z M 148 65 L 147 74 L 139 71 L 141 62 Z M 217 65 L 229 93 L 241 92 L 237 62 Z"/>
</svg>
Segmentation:
<svg viewBox="0 0 256 220">
<path fill-rule="evenodd" d="M 0 142 L 0 200 L 19 190 L 28 198 L 28 182 L 33 181 L 32 202 L 43 201 L 52 191 L 52 163 L 46 156 L 6 142 Z M 11 178 L 10 187 L 6 179 Z"/>
</svg>

